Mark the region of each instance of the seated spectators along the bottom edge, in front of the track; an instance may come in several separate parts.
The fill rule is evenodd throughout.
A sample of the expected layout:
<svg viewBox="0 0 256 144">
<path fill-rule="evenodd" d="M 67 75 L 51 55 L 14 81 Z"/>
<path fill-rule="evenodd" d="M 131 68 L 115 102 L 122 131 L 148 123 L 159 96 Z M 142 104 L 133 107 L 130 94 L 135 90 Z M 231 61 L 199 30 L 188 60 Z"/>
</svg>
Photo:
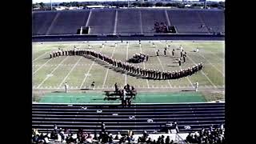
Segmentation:
<svg viewBox="0 0 256 144">
<path fill-rule="evenodd" d="M 104 123 L 103 123 L 104 124 Z M 103 125 L 102 124 L 102 125 Z M 177 123 L 168 122 L 166 126 L 171 126 L 171 129 L 175 129 Z M 167 126 L 168 127 L 168 126 Z M 223 125 L 214 128 L 210 126 L 209 130 L 202 129 L 199 132 L 193 134 L 188 134 L 185 142 L 187 143 L 209 143 L 209 144 L 222 144 L 225 143 L 224 137 L 225 129 Z M 38 133 L 38 130 L 32 131 L 31 143 L 52 143 L 52 142 L 64 142 L 64 143 L 131 143 L 136 142 L 134 138 L 134 132 L 128 130 L 127 134 L 116 134 L 115 136 L 110 132 L 107 132 L 105 126 L 102 127 L 100 133 L 94 132 L 94 134 L 86 133 L 84 130 L 79 129 L 76 134 L 71 134 L 69 130 L 62 130 L 57 126 L 54 126 L 49 134 Z M 170 136 L 159 136 L 157 139 L 152 139 L 149 137 L 149 134 L 146 130 L 143 132 L 142 136 L 138 137 L 137 143 L 146 143 L 146 144 L 174 144 L 173 140 L 170 139 Z"/>
</svg>

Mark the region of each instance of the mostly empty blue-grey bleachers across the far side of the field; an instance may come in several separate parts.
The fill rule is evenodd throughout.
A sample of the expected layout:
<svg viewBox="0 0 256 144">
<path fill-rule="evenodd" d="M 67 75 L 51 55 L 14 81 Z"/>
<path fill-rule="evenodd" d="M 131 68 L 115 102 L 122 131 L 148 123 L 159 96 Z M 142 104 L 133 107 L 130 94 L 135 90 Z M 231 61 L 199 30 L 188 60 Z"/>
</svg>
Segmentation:
<svg viewBox="0 0 256 144">
<path fill-rule="evenodd" d="M 179 34 L 209 34 L 210 27 L 218 32 L 224 30 L 223 10 L 155 10 L 155 9 L 95 9 L 33 12 L 33 35 L 76 34 L 77 28 L 89 21 L 90 34 L 114 34 L 116 11 L 118 11 L 116 34 L 154 34 L 154 22 L 168 21 Z M 188 24 L 189 23 L 189 24 Z M 203 27 L 201 27 L 203 26 Z"/>
</svg>

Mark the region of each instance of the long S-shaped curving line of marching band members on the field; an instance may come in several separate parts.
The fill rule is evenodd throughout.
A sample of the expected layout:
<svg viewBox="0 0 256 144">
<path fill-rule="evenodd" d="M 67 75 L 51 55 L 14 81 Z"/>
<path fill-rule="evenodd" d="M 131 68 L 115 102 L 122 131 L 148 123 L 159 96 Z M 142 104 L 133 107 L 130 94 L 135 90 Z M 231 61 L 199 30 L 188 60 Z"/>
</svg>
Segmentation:
<svg viewBox="0 0 256 144">
<path fill-rule="evenodd" d="M 59 49 L 57 51 L 53 51 L 52 53 L 50 53 L 50 58 L 57 58 L 59 56 L 68 56 L 68 55 L 69 56 L 70 55 L 81 55 L 81 56 L 89 55 L 94 58 L 98 58 L 103 62 L 107 62 L 111 66 L 114 66 L 118 69 L 125 70 L 130 74 L 134 74 L 137 76 L 150 78 L 150 79 L 158 79 L 158 80 L 183 78 L 183 77 L 195 74 L 199 70 L 202 70 L 202 62 L 198 63 L 195 66 L 188 67 L 187 69 L 183 69 L 183 70 L 181 69 L 181 70 L 174 70 L 174 71 L 167 71 L 167 70 L 162 71 L 162 70 L 153 70 L 153 69 L 147 69 L 147 68 L 143 69 L 140 66 L 134 66 L 129 62 L 122 62 L 121 60 L 110 58 L 109 56 L 94 50 L 78 49 L 78 48 L 74 48 L 70 50 Z M 146 61 L 147 60 L 148 60 L 148 57 L 146 58 Z M 180 61 L 180 58 L 179 58 L 179 61 Z"/>
</svg>

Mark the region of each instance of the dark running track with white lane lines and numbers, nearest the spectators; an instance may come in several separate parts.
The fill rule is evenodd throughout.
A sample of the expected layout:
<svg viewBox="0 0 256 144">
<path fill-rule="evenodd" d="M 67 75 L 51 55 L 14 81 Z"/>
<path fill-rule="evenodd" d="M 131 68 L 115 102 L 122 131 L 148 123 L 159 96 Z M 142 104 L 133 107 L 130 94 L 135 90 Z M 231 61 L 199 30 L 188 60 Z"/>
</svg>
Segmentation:
<svg viewBox="0 0 256 144">
<path fill-rule="evenodd" d="M 178 122 L 179 131 L 187 133 L 224 123 L 224 105 L 222 102 L 141 104 L 123 109 L 117 104 L 68 106 L 38 103 L 32 106 L 32 128 L 48 132 L 56 124 L 71 131 L 83 128 L 94 132 L 100 131 L 101 122 L 105 122 L 106 130 L 111 133 L 132 129 L 135 134 L 140 134 L 143 130 L 150 133 L 159 130 L 166 122 Z M 86 107 L 86 110 L 82 107 Z M 97 110 L 102 110 L 102 113 L 97 113 Z M 148 119 L 153 122 L 147 122 Z M 190 129 L 186 126 L 190 126 Z"/>
</svg>

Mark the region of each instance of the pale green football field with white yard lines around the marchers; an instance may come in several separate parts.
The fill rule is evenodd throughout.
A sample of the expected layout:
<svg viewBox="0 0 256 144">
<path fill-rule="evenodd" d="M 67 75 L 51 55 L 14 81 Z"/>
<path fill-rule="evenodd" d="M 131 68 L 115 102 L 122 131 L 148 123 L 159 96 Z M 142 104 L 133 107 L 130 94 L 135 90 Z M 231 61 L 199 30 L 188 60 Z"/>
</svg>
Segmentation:
<svg viewBox="0 0 256 144">
<path fill-rule="evenodd" d="M 213 87 L 224 88 L 225 82 L 225 42 L 190 42 L 190 41 L 155 41 L 155 48 L 152 42 L 142 41 L 142 47 L 138 45 L 138 41 L 132 41 L 127 46 L 126 42 L 118 42 L 118 46 L 114 47 L 114 42 L 104 42 L 105 47 L 102 48 L 102 42 L 34 42 L 33 43 L 33 89 L 63 89 L 64 83 L 67 82 L 70 89 L 90 88 L 90 83 L 95 82 L 96 90 L 112 89 L 114 83 L 124 86 L 129 83 L 135 88 L 143 88 L 151 90 L 161 88 L 177 88 L 192 87 L 198 80 L 199 88 Z M 133 54 L 143 52 L 149 54 L 148 62 L 134 64 L 150 69 L 158 70 L 180 70 L 203 62 L 204 68 L 197 74 L 190 77 L 179 78 L 175 80 L 147 80 L 135 78 L 127 74 L 118 73 L 111 68 L 102 66 L 94 59 L 84 58 L 81 56 L 62 56 L 50 59 L 49 54 L 58 47 L 67 50 L 78 48 L 88 48 L 92 46 L 93 50 L 101 51 L 102 54 L 113 58 L 126 61 Z M 168 45 L 167 56 L 163 56 L 164 47 Z M 178 47 L 182 45 L 187 53 L 186 63 L 182 63 L 179 67 L 175 58 L 170 56 L 171 50 L 175 48 L 175 56 L 178 58 L 180 50 Z M 193 50 L 199 48 L 199 53 Z M 160 56 L 155 56 L 155 50 L 160 50 Z M 170 50 L 170 51 L 169 51 Z"/>
</svg>

